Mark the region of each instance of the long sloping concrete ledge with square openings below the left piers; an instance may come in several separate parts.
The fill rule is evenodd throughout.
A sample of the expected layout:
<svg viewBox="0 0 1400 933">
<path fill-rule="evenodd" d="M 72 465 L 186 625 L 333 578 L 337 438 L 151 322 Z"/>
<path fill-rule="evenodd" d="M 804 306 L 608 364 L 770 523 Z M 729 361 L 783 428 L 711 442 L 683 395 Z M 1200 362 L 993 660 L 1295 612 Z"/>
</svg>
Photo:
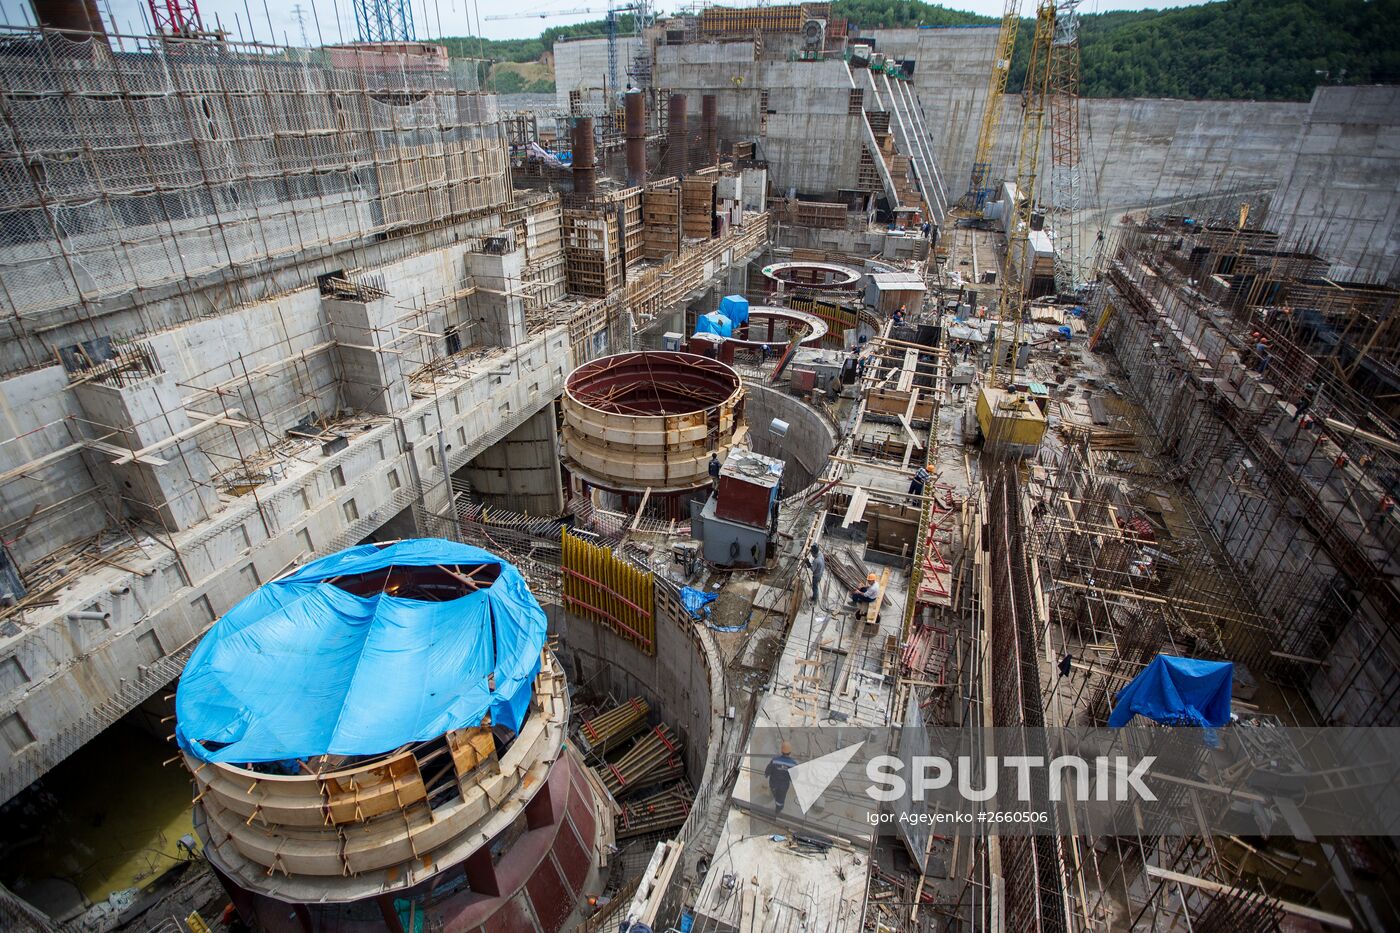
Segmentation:
<svg viewBox="0 0 1400 933">
<path fill-rule="evenodd" d="M 256 496 L 227 497 L 214 520 L 167 541 L 146 538 L 144 555 L 95 566 L 45 616 L 10 626 L 0 636 L 0 665 L 14 671 L 0 696 L 0 799 L 178 675 L 204 629 L 263 581 L 357 544 L 420 499 L 441 507 L 438 431 L 459 469 L 550 406 L 568 333 L 554 328 L 494 353 L 514 360 L 510 381 L 486 366 L 396 417 L 367 419 L 343 450 L 308 444 Z"/>
</svg>

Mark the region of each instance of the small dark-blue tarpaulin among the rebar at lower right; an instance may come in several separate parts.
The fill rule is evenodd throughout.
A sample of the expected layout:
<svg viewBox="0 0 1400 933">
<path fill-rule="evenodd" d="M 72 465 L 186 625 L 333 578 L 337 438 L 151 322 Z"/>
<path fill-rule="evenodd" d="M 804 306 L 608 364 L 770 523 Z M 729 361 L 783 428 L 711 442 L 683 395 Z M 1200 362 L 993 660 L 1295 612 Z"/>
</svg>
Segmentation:
<svg viewBox="0 0 1400 933">
<path fill-rule="evenodd" d="M 1233 675 L 1229 661 L 1158 654 L 1119 691 L 1109 726 L 1127 726 L 1134 716 L 1170 726 L 1224 726 L 1229 721 Z"/>
</svg>

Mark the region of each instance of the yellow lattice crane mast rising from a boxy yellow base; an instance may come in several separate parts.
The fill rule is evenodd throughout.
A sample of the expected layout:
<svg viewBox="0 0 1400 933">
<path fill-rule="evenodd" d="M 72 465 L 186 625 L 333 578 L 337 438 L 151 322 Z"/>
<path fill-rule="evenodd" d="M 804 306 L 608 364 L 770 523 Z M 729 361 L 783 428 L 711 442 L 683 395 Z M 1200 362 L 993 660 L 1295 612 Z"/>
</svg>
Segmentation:
<svg viewBox="0 0 1400 933">
<path fill-rule="evenodd" d="M 997 339 L 991 368 L 977 395 L 977 426 L 988 448 L 1023 452 L 1040 444 L 1046 431 L 1046 399 L 1016 387 L 1016 356 L 1021 349 L 1021 319 L 1026 305 L 1026 266 L 1030 214 L 1036 203 L 1040 171 L 1040 141 L 1044 137 L 1050 56 L 1054 41 L 1054 0 L 1040 0 L 1036 8 L 1036 32 L 1026 64 L 1026 83 L 1021 91 L 1021 146 L 1016 156 L 1016 193 L 1007 210 L 1014 213 L 1007 240 L 1007 265 L 1001 275 L 997 300 Z M 1011 332 L 1009 360 L 1002 370 L 1007 332 Z M 998 375 L 1004 378 L 998 380 Z"/>
</svg>

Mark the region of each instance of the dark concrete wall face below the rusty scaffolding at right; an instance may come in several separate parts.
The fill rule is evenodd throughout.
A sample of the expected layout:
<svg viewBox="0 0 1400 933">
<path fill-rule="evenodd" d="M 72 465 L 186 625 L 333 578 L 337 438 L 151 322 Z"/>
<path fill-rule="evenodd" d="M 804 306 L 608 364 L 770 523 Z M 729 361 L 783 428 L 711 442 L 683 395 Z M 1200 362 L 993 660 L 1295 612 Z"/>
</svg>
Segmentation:
<svg viewBox="0 0 1400 933">
<path fill-rule="evenodd" d="M 1170 297 L 1159 297 L 1169 310 L 1173 307 Z M 1400 670 L 1400 643 L 1385 618 L 1386 609 L 1365 580 L 1348 579 L 1337 555 L 1319 537 L 1315 513 L 1270 479 L 1257 445 L 1282 451 L 1288 471 L 1302 475 L 1310 465 L 1316 475 L 1331 481 L 1319 482 L 1315 493 L 1331 499 L 1330 507 L 1338 509 L 1323 535 L 1355 521 L 1343 518 L 1340 511 L 1347 504 L 1344 496 L 1351 496 L 1348 488 L 1331 471 L 1322 472 L 1317 462 L 1330 454 L 1319 452 L 1299 430 L 1292 410 L 1267 380 L 1247 370 L 1238 353 L 1228 349 L 1219 331 L 1196 322 L 1190 342 L 1184 343 L 1191 357 L 1182 356 L 1173 366 L 1131 364 L 1159 360 L 1168 347 L 1177 349 L 1175 340 L 1163 342 L 1163 329 L 1158 319 L 1119 312 L 1109 339 L 1114 356 L 1124 363 L 1134 395 L 1152 399 L 1147 410 L 1163 445 L 1189 466 L 1184 482 L 1211 532 L 1253 587 L 1252 608 L 1273 621 L 1273 630 L 1264 635 L 1267 644 L 1247 642 L 1257 636 L 1236 635 L 1243 640 L 1226 643 L 1226 649 L 1235 657 L 1247 651 L 1271 665 L 1287 663 L 1288 656 L 1324 658 L 1326 663 L 1305 670 L 1309 693 L 1324 721 L 1393 724 L 1394 710 L 1380 698 L 1387 695 L 1387 685 Z M 1219 394 L 1214 399 L 1198 384 L 1179 377 L 1191 366 L 1198 367 L 1203 359 L 1221 360 L 1215 371 L 1222 378 L 1210 380 Z M 1226 424 L 1221 412 L 1228 406 L 1247 408 L 1257 434 L 1240 437 Z M 1386 544 L 1394 546 L 1394 541 Z"/>
</svg>

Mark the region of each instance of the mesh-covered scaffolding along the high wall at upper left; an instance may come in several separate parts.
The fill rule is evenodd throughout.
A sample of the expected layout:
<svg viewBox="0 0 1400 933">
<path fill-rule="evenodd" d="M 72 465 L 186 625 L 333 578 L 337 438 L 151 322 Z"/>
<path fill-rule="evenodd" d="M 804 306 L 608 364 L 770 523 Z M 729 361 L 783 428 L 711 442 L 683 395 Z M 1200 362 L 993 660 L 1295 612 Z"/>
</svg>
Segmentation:
<svg viewBox="0 0 1400 933">
<path fill-rule="evenodd" d="M 507 203 L 496 98 L 473 62 L 416 49 L 74 42 L 7 27 L 0 310 L 11 332 Z M 186 304 L 183 319 L 199 314 Z M 25 352 L 52 359 L 32 336 Z"/>
</svg>

